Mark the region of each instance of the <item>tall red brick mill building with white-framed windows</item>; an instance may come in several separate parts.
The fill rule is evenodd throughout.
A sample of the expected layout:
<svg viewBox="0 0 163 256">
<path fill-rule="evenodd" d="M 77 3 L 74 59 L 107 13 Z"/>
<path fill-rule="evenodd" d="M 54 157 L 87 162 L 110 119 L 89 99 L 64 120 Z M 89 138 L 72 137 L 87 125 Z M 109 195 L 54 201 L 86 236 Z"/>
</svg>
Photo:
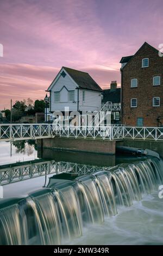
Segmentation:
<svg viewBox="0 0 163 256">
<path fill-rule="evenodd" d="M 122 123 L 163 126 L 163 57 L 159 51 L 145 42 L 120 63 Z"/>
</svg>

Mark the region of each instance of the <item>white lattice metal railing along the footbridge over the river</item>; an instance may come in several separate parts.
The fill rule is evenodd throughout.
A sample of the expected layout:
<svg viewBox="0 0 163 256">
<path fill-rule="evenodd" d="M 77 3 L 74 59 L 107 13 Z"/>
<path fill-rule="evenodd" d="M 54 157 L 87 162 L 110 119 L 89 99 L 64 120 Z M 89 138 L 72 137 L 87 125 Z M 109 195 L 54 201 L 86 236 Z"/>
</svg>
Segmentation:
<svg viewBox="0 0 163 256">
<path fill-rule="evenodd" d="M 0 141 L 59 137 L 142 139 L 163 141 L 163 127 L 60 126 L 55 124 L 0 124 Z"/>
</svg>

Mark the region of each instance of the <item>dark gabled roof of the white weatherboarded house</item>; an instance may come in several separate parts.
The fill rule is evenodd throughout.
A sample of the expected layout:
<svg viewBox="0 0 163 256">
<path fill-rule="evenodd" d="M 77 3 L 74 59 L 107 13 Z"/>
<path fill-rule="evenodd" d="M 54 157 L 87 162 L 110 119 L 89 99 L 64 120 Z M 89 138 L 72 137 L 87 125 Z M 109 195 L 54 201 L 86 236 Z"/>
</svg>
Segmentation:
<svg viewBox="0 0 163 256">
<path fill-rule="evenodd" d="M 87 72 L 70 69 L 66 66 L 62 66 L 61 70 L 65 70 L 67 74 L 71 76 L 72 80 L 78 85 L 79 88 L 103 92 L 103 89 L 99 87 L 99 85 L 95 82 L 95 80 L 93 80 L 93 78 Z M 61 74 L 61 70 L 59 71 L 58 75 Z M 58 77 L 58 75 L 54 78 L 53 82 Z M 49 86 L 48 90 L 51 89 L 53 82 Z"/>
</svg>

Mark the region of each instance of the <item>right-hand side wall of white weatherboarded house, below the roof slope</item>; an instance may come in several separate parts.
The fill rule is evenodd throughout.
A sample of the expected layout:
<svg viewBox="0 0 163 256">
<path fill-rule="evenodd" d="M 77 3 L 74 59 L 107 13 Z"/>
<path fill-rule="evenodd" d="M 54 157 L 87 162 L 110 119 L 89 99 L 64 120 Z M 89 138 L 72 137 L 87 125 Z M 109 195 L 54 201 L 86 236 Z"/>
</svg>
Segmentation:
<svg viewBox="0 0 163 256">
<path fill-rule="evenodd" d="M 99 111 L 101 101 L 102 93 L 93 90 L 85 90 L 85 101 L 83 101 L 83 90 L 79 89 L 79 111 Z"/>
</svg>

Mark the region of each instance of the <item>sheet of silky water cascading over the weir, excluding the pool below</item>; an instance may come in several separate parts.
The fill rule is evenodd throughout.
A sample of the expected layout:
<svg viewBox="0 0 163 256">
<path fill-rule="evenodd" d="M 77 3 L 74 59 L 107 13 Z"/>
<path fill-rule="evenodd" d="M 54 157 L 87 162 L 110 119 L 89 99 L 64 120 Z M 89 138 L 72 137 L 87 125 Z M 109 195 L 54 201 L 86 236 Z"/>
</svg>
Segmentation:
<svg viewBox="0 0 163 256">
<path fill-rule="evenodd" d="M 149 159 L 120 164 L 73 181 L 30 193 L 11 205 L 0 204 L 0 243 L 59 245 L 80 237 L 87 223 L 115 216 L 118 206 L 130 206 L 161 184 L 162 162 Z"/>
</svg>

